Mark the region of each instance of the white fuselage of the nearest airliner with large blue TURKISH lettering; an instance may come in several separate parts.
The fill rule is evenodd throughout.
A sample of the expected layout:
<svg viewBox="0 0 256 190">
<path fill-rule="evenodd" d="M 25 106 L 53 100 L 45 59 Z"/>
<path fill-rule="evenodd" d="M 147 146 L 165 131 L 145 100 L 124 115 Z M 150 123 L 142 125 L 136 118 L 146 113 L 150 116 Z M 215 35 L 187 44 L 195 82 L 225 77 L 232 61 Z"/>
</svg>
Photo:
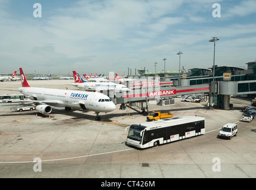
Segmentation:
<svg viewBox="0 0 256 190">
<path fill-rule="evenodd" d="M 73 107 L 95 112 L 111 112 L 116 108 L 108 96 L 97 92 L 35 87 L 21 87 L 19 90 L 30 99 L 42 101 L 41 104 L 50 106 Z M 107 101 L 99 102 L 101 99 Z"/>
</svg>

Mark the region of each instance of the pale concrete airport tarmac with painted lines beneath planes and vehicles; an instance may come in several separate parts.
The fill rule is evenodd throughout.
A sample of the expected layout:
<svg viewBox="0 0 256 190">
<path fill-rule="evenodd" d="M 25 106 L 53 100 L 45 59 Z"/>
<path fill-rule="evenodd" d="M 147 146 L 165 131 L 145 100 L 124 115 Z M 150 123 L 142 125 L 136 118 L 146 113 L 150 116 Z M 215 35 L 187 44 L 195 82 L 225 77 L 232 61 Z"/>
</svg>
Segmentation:
<svg viewBox="0 0 256 190">
<path fill-rule="evenodd" d="M 32 87 L 75 89 L 71 83 L 29 81 Z M 20 81 L 0 83 L 0 88 L 20 86 Z M 95 121 L 94 112 L 53 107 L 50 115 L 42 115 L 10 110 L 21 106 L 18 103 L 0 103 L 0 178 L 256 178 L 256 121 L 240 121 L 241 106 L 250 103 L 235 98 L 230 103 L 230 110 L 208 109 L 207 102 L 179 98 L 175 105 L 149 103 L 149 112 L 205 117 L 206 133 L 143 150 L 125 144 L 125 128 L 146 122 L 146 116 L 128 107 L 120 110 L 116 105 Z M 227 123 L 238 125 L 237 137 L 217 138 Z"/>
</svg>

